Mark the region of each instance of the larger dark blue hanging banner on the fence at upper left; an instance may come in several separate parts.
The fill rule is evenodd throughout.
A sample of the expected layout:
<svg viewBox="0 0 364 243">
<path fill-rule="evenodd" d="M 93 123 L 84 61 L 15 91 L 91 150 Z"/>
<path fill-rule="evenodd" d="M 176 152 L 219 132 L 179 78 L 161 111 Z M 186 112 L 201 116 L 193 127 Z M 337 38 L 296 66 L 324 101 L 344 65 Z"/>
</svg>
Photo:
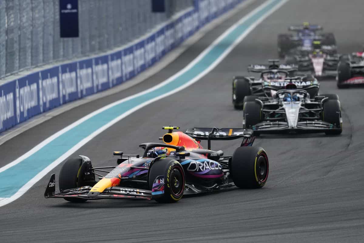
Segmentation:
<svg viewBox="0 0 364 243">
<path fill-rule="evenodd" d="M 78 37 L 78 0 L 59 0 L 61 38 Z"/>
</svg>

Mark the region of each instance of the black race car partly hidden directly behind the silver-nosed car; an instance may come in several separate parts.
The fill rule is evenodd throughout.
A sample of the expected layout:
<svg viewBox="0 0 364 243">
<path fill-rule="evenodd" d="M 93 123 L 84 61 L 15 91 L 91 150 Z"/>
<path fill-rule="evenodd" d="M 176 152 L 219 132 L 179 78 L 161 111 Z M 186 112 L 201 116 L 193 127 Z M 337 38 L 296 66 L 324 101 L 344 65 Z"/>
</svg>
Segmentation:
<svg viewBox="0 0 364 243">
<path fill-rule="evenodd" d="M 286 85 L 293 83 L 296 87 L 308 91 L 311 97 L 318 94 L 320 83 L 311 74 L 295 77 L 289 76 L 297 70 L 294 65 L 277 65 L 279 60 L 268 60 L 268 65 L 253 64 L 248 67 L 249 72 L 259 72 L 260 78 L 236 76 L 233 78 L 233 104 L 236 109 L 242 109 L 247 101 L 254 101 L 258 97 L 273 97 Z"/>
</svg>

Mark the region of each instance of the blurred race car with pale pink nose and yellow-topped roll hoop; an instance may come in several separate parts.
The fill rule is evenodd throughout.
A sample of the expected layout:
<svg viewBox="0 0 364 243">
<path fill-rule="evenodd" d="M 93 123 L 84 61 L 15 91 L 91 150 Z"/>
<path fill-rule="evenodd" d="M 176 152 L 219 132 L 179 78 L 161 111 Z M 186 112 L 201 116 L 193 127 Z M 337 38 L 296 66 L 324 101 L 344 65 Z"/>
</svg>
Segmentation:
<svg viewBox="0 0 364 243">
<path fill-rule="evenodd" d="M 321 42 L 315 41 L 313 51 L 293 50 L 285 56 L 285 62 L 297 66 L 297 75 L 310 72 L 316 78 L 336 77 L 339 58 L 340 55 L 332 54 Z"/>
</svg>

